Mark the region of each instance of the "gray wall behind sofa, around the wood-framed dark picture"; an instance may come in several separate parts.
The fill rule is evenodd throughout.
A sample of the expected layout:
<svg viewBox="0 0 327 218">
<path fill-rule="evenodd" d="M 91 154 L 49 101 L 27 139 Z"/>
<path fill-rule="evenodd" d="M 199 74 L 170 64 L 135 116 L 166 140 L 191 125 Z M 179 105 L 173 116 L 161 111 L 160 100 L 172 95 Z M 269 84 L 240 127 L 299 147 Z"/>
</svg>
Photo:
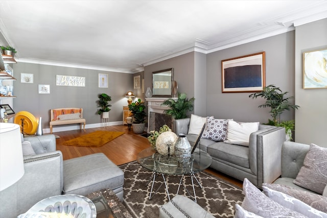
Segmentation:
<svg viewBox="0 0 327 218">
<path fill-rule="evenodd" d="M 229 58 L 266 52 L 266 85 L 275 84 L 288 96 L 294 96 L 294 35 L 295 32 L 272 36 L 231 47 L 207 55 L 207 115 L 233 118 L 241 122 L 267 123 L 268 108 L 258 108 L 264 99 L 252 100 L 249 92 L 222 93 L 221 61 Z M 294 119 L 294 111 L 284 112 L 282 120 Z"/>
</svg>

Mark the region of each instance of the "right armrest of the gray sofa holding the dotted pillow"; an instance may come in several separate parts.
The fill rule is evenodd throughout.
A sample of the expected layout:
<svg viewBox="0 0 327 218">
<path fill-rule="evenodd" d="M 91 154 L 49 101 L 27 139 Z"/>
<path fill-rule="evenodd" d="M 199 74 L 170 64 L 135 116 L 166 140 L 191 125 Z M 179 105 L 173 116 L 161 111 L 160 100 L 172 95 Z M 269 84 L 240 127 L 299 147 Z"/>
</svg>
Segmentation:
<svg viewBox="0 0 327 218">
<path fill-rule="evenodd" d="M 261 129 L 250 135 L 250 168 L 258 178 L 257 186 L 272 183 L 281 175 L 281 151 L 285 141 L 285 128 L 274 127 Z"/>
</svg>

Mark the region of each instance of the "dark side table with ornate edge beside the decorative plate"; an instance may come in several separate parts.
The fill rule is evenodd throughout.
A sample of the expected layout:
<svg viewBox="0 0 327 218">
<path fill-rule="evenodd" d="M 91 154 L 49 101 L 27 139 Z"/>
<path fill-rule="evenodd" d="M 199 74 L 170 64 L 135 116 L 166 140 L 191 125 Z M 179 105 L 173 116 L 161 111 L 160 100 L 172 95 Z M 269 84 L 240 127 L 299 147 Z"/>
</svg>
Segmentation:
<svg viewBox="0 0 327 218">
<path fill-rule="evenodd" d="M 111 189 L 101 189 L 85 196 L 96 206 L 97 218 L 132 218 L 123 203 Z"/>
</svg>

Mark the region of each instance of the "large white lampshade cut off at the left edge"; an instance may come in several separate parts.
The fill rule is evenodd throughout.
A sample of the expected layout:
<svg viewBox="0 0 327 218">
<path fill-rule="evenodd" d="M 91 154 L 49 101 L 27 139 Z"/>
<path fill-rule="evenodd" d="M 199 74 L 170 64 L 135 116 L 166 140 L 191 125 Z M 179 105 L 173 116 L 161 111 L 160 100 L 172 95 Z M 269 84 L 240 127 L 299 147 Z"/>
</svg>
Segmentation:
<svg viewBox="0 0 327 218">
<path fill-rule="evenodd" d="M 20 127 L 0 123 L 0 191 L 17 182 L 24 172 Z"/>
</svg>

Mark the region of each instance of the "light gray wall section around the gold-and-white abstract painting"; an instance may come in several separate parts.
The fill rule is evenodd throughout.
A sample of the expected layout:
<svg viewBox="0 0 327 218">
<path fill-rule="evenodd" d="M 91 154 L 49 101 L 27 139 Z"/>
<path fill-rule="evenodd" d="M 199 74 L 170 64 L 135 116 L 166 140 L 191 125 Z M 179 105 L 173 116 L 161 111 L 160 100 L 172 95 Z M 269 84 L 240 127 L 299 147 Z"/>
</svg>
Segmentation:
<svg viewBox="0 0 327 218">
<path fill-rule="evenodd" d="M 295 141 L 327 147 L 327 89 L 303 89 L 303 52 L 327 49 L 327 19 L 295 31 Z"/>
</svg>

